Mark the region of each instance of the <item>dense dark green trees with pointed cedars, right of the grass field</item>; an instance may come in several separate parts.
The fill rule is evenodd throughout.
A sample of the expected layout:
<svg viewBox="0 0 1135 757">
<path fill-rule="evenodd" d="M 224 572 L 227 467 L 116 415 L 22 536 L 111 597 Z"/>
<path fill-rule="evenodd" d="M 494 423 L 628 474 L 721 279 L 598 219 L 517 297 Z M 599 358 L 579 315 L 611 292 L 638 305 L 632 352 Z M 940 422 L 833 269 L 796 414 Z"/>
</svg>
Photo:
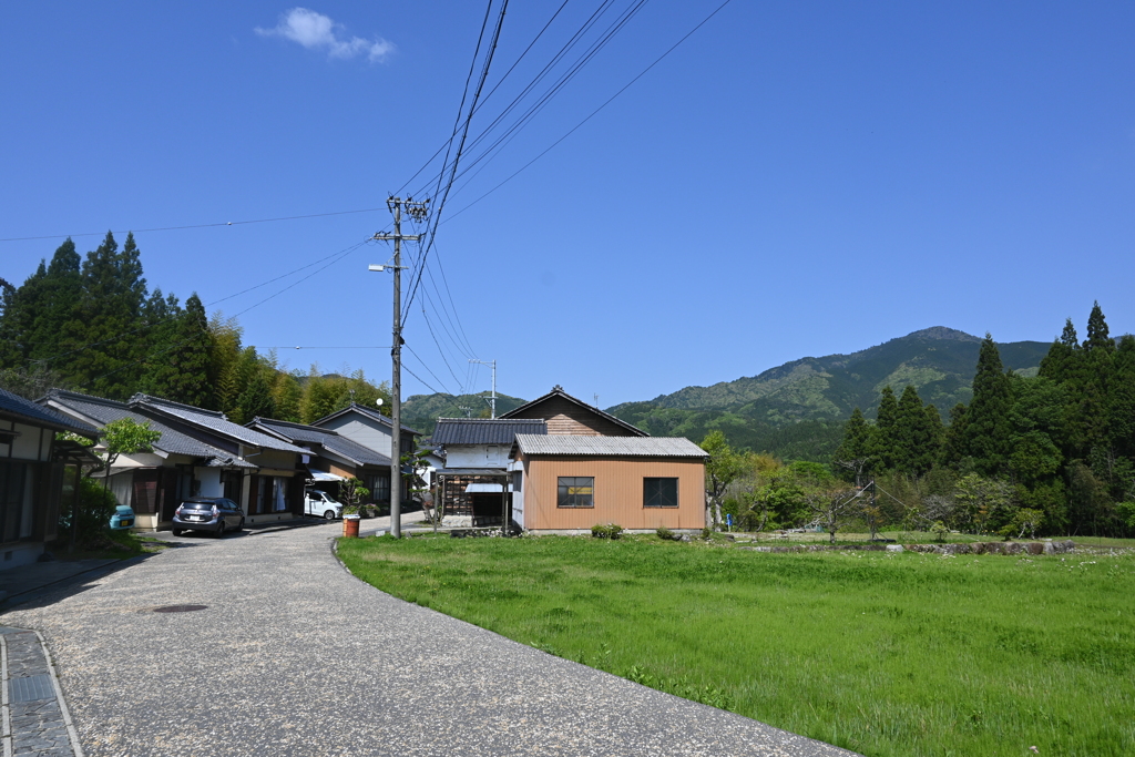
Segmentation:
<svg viewBox="0 0 1135 757">
<path fill-rule="evenodd" d="M 982 342 L 972 402 L 943 427 L 907 386 L 857 409 L 835 453 L 848 480 L 896 481 L 956 528 L 1120 536 L 1135 531 L 1135 337 L 1113 339 L 1099 303 L 1081 342 L 1068 320 L 1035 377 Z"/>
</svg>

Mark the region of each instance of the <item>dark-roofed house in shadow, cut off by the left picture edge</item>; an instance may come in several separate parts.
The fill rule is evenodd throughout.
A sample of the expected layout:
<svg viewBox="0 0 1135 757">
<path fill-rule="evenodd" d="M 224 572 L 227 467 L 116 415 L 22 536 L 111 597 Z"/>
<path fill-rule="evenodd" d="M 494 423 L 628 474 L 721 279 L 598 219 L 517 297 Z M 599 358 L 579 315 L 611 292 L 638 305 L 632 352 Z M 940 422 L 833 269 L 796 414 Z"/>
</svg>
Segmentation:
<svg viewBox="0 0 1135 757">
<path fill-rule="evenodd" d="M 67 466 L 81 464 L 59 431 L 99 437 L 89 423 L 0 389 L 0 571 L 36 561 L 59 536 Z"/>
</svg>

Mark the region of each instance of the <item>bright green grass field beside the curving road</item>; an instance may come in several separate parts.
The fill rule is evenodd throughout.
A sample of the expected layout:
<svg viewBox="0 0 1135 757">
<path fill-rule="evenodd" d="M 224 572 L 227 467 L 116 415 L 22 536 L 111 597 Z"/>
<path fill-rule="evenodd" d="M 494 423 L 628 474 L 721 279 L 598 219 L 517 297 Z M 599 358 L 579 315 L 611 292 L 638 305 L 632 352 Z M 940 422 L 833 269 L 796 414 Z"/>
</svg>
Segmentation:
<svg viewBox="0 0 1135 757">
<path fill-rule="evenodd" d="M 1126 552 L 384 537 L 339 556 L 397 597 L 864 755 L 1135 754 Z"/>
</svg>

